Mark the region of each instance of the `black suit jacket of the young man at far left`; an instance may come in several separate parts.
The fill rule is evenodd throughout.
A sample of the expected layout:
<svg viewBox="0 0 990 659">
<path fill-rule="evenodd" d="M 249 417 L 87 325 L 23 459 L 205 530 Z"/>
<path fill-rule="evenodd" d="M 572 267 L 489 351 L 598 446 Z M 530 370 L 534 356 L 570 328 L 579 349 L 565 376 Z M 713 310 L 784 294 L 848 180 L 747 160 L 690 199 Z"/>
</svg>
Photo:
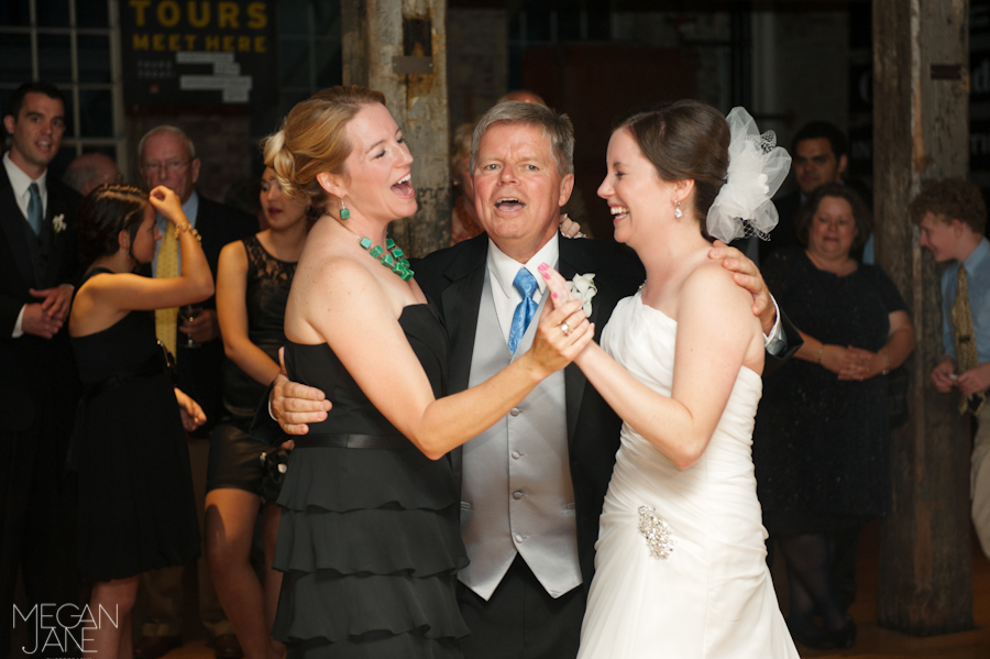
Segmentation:
<svg viewBox="0 0 990 659">
<path fill-rule="evenodd" d="M 31 334 L 11 338 L 21 307 L 38 301 L 28 293 L 29 288 L 75 284 L 80 274 L 76 212 L 81 197 L 51 175 L 46 183 L 48 200 L 42 238 L 51 243 L 42 279 L 37 281 L 24 233 L 26 220 L 6 169 L 0 167 L 0 416 L 4 431 L 29 428 L 45 397 L 62 399 L 72 410 L 78 394 L 67 322 L 53 339 Z M 52 220 L 58 215 L 64 216 L 66 228 L 56 233 Z"/>
</svg>

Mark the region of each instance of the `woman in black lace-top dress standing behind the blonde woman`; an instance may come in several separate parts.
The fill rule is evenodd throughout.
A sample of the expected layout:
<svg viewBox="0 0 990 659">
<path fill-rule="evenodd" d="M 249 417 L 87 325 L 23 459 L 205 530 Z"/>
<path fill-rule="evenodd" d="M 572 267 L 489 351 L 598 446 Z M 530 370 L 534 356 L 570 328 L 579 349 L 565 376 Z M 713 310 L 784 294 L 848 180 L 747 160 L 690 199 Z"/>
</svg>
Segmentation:
<svg viewBox="0 0 990 659">
<path fill-rule="evenodd" d="M 261 206 L 268 228 L 223 248 L 217 267 L 227 416 L 210 436 L 205 532 L 213 585 L 244 656 L 278 659 L 285 646 L 271 635 L 282 587 L 282 572 L 272 569 L 277 488 L 265 477 L 262 460 L 276 451 L 251 439 L 248 429 L 265 387 L 278 374 L 285 304 L 308 227 L 306 205 L 285 198 L 271 167 L 262 175 Z M 263 582 L 250 561 L 258 510 L 264 515 Z"/>
</svg>

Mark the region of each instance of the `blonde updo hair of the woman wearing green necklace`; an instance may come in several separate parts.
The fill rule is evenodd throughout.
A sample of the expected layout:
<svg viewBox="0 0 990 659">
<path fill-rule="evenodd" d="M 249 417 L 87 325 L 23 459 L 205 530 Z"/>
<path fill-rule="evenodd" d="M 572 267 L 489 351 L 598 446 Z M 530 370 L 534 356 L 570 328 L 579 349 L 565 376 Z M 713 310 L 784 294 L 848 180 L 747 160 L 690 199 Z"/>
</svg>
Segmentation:
<svg viewBox="0 0 990 659">
<path fill-rule="evenodd" d="M 327 191 L 317 174 L 346 172 L 352 145 L 348 123 L 363 106 L 385 105 L 381 91 L 351 85 L 330 87 L 297 103 L 282 130 L 262 140 L 265 165 L 275 172 L 282 193 L 292 201 L 302 201 L 322 213 Z"/>
</svg>

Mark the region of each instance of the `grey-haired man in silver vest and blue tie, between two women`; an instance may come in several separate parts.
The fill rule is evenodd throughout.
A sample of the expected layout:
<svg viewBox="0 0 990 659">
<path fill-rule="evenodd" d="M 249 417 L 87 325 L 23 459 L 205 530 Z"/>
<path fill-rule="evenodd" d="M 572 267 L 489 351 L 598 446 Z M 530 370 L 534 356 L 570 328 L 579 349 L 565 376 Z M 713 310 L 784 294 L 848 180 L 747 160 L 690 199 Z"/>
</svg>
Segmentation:
<svg viewBox="0 0 990 659">
<path fill-rule="evenodd" d="M 568 240 L 558 232 L 560 209 L 573 188 L 573 146 L 566 116 L 536 103 L 499 103 L 479 121 L 471 171 L 486 233 L 414 264 L 450 337 L 448 393 L 484 382 L 529 348 L 536 323 L 517 334 L 513 319 L 524 295 L 540 307 L 546 304 L 541 263 L 568 279 L 594 275 L 590 320 L 596 340 L 615 304 L 642 283 L 642 265 L 625 245 Z M 737 266 L 758 274 L 745 260 Z M 762 290 L 758 277 L 749 283 Z M 534 318 L 539 314 L 538 308 Z M 774 315 L 771 305 L 768 328 Z M 279 375 L 273 413 L 295 432 L 301 428 L 293 424 L 324 418 L 322 410 L 314 411 L 322 397 Z M 322 402 L 322 408 L 329 404 Z M 258 426 L 254 433 L 262 437 Z M 461 639 L 465 658 L 576 655 L 620 427 L 618 416 L 571 364 L 452 452 L 461 480 L 461 532 L 471 559 L 459 574 L 458 591 L 471 628 Z"/>
</svg>

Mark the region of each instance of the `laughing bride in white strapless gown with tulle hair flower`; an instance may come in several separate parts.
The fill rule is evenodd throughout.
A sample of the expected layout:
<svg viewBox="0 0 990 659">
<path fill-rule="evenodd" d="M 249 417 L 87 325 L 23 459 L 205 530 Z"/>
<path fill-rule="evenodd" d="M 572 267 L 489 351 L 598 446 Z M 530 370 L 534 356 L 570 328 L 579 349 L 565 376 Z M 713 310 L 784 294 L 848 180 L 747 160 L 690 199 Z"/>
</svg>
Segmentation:
<svg viewBox="0 0 990 659">
<path fill-rule="evenodd" d="M 756 220 L 749 231 L 776 224 L 763 201 L 790 158 L 760 149 L 748 128 L 748 144 L 733 131 L 732 167 L 726 119 L 696 101 L 634 116 L 608 143 L 598 195 L 647 279 L 616 306 L 602 347 L 575 360 L 625 420 L 579 659 L 798 657 L 767 569 L 750 451 L 762 331 L 701 231 L 727 172 L 710 233 L 741 234 L 732 219 L 751 188 L 762 208 L 743 215 Z M 782 163 L 782 175 L 760 178 L 761 158 Z M 554 298 L 568 299 L 560 275 L 544 273 Z"/>
</svg>

